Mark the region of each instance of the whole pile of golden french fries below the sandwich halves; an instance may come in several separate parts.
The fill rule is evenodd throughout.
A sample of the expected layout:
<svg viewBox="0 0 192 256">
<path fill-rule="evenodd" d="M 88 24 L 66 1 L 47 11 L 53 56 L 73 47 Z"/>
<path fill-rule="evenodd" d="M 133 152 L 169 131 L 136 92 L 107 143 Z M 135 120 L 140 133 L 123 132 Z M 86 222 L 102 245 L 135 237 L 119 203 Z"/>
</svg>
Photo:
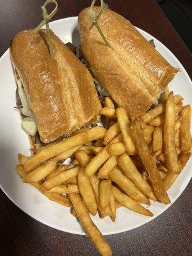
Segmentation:
<svg viewBox="0 0 192 256">
<path fill-rule="evenodd" d="M 90 214 L 115 221 L 124 206 L 153 216 L 141 204 L 170 203 L 166 191 L 191 156 L 191 106 L 182 100 L 166 89 L 157 106 L 130 122 L 126 109 L 106 97 L 100 115 L 108 129 L 83 128 L 32 157 L 19 154 L 15 170 L 50 200 L 72 207 L 100 255 L 112 255 Z"/>
</svg>

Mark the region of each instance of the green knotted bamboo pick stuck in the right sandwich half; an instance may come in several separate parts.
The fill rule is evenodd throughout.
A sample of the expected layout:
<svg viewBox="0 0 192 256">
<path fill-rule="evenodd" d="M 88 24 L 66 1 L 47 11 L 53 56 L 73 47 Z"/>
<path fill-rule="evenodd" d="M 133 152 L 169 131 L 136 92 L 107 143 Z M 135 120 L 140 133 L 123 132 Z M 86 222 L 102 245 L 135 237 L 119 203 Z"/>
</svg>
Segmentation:
<svg viewBox="0 0 192 256">
<path fill-rule="evenodd" d="M 106 39 L 106 37 L 105 37 L 104 34 L 102 33 L 102 31 L 101 31 L 99 25 L 97 24 L 97 22 L 98 22 L 98 20 L 99 20 L 99 18 L 100 18 L 100 15 L 102 14 L 102 11 L 103 11 L 103 9 L 104 9 L 104 2 L 103 2 L 103 0 L 100 0 L 100 10 L 99 10 L 99 13 L 98 13 L 97 16 L 96 16 L 96 15 L 95 15 L 95 12 L 93 12 L 93 6 L 94 6 L 94 4 L 95 4 L 96 1 L 97 1 L 97 0 L 93 0 L 93 1 L 92 1 L 92 4 L 91 4 L 91 6 L 90 6 L 90 8 L 89 8 L 89 10 L 88 10 L 88 14 L 90 15 L 90 19 L 91 19 L 91 21 L 92 21 L 92 25 L 90 26 L 89 30 L 91 30 L 91 29 L 93 28 L 93 26 L 95 26 L 95 27 L 97 28 L 98 32 L 100 33 L 100 36 L 102 37 L 102 40 L 104 40 L 105 44 L 106 44 L 108 47 L 111 47 L 111 46 L 109 45 L 108 40 Z"/>
</svg>

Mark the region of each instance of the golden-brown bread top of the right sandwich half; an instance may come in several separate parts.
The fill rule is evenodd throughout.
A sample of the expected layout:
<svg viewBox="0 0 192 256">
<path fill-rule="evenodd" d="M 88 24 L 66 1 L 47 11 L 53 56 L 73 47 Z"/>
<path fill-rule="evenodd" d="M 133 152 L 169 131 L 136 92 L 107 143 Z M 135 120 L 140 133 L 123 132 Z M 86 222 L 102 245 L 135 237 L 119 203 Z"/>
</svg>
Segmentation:
<svg viewBox="0 0 192 256">
<path fill-rule="evenodd" d="M 97 13 L 99 7 L 93 10 Z M 86 8 L 78 18 L 81 54 L 93 76 L 134 120 L 150 108 L 179 69 L 118 13 L 104 9 L 98 22 L 111 47 L 104 44 L 95 26 L 88 30 L 90 24 Z"/>
</svg>

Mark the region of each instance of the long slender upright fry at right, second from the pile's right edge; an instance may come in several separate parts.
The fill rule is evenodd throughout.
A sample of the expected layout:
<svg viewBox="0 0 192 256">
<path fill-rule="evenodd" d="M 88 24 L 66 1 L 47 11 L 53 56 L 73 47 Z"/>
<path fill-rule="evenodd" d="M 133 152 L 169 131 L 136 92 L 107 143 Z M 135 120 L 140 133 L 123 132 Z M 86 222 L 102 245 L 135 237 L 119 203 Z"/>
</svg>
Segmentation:
<svg viewBox="0 0 192 256">
<path fill-rule="evenodd" d="M 175 104 L 173 102 L 173 92 L 170 92 L 166 101 L 164 119 L 164 156 L 166 165 L 172 173 L 180 173 L 175 147 Z"/>
</svg>

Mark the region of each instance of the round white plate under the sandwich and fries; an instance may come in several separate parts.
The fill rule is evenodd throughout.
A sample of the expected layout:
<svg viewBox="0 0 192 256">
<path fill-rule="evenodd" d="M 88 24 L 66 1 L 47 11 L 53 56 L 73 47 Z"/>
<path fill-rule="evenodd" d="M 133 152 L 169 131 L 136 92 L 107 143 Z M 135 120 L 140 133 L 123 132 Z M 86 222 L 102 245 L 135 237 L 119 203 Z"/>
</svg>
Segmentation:
<svg viewBox="0 0 192 256">
<path fill-rule="evenodd" d="M 51 22 L 50 26 L 63 42 L 73 42 L 75 45 L 78 44 L 79 33 L 77 29 L 77 17 L 56 20 Z M 180 72 L 173 79 L 170 88 L 173 89 L 174 93 L 180 93 L 184 97 L 185 104 L 192 104 L 192 83 L 179 60 L 177 60 L 172 52 L 161 44 L 161 42 L 156 40 L 156 38 L 150 36 L 141 29 L 138 30 L 148 40 L 154 39 L 157 51 L 159 51 L 174 67 L 180 68 Z M 15 78 L 13 76 L 8 50 L 0 59 L 1 189 L 15 205 L 35 220 L 58 230 L 74 234 L 84 234 L 76 218 L 70 214 L 69 208 L 48 200 L 29 184 L 23 184 L 20 177 L 13 170 L 13 166 L 17 164 L 17 154 L 19 152 L 26 155 L 30 154 L 28 137 L 20 127 L 19 112 L 14 109 L 15 88 Z M 191 179 L 191 165 L 192 159 L 179 175 L 172 188 L 168 191 L 172 204 L 180 196 L 182 191 L 184 191 Z M 148 209 L 154 213 L 153 218 L 142 216 L 141 214 L 131 212 L 124 207 L 121 207 L 118 209 L 115 223 L 113 223 L 109 217 L 100 219 L 98 215 L 93 218 L 93 221 L 99 227 L 102 234 L 116 234 L 139 227 L 148 221 L 153 220 L 172 204 L 164 205 L 158 202 L 152 202 Z"/>
</svg>

